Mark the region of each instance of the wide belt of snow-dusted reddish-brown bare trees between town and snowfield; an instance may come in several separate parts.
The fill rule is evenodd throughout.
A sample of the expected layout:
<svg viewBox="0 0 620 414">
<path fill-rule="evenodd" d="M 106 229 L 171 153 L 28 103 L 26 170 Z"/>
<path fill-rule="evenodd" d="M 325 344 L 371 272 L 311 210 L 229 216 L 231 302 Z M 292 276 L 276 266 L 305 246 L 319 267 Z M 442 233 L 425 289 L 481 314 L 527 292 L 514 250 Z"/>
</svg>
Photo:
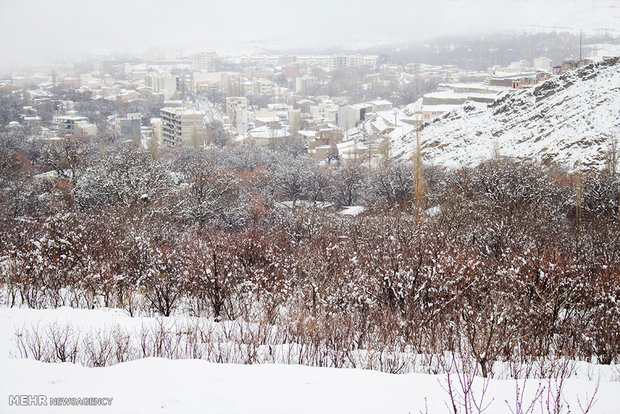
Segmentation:
<svg viewBox="0 0 620 414">
<path fill-rule="evenodd" d="M 497 360 L 619 359 L 610 171 L 427 167 L 412 205 L 405 162 L 19 145 L 0 151 L 9 306 L 264 321 L 328 349 L 462 350 L 485 376 Z M 337 213 L 356 203 L 362 215 Z"/>
</svg>

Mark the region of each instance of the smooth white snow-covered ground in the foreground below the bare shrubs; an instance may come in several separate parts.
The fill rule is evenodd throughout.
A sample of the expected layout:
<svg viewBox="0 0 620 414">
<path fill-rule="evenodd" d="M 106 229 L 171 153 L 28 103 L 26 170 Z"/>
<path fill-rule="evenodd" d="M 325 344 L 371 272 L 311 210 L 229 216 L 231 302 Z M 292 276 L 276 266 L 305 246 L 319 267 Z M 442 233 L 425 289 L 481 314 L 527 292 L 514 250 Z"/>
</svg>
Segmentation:
<svg viewBox="0 0 620 414">
<path fill-rule="evenodd" d="M 82 333 L 116 325 L 136 327 L 143 321 L 118 310 L 0 309 L 0 412 L 10 413 L 447 413 L 451 406 L 446 375 L 393 375 L 370 370 L 299 365 L 215 364 L 203 360 L 146 358 L 106 368 L 70 363 L 48 364 L 19 359 L 15 331 L 27 326 L 71 323 Z M 592 413 L 618 413 L 620 373 L 617 366 L 581 363 L 563 387 L 564 413 L 582 412 L 598 384 Z M 452 376 L 460 389 L 459 377 Z M 518 384 L 518 387 L 517 387 Z M 475 378 L 474 396 L 484 381 Z M 549 385 L 551 385 L 549 387 Z M 554 381 L 492 379 L 484 404 L 487 413 L 511 413 L 515 391 L 524 390 L 524 408 L 539 386 L 557 389 Z M 10 395 L 113 398 L 110 406 L 9 406 Z M 533 412 L 547 410 L 547 391 Z M 48 400 L 50 401 L 50 400 Z"/>
</svg>

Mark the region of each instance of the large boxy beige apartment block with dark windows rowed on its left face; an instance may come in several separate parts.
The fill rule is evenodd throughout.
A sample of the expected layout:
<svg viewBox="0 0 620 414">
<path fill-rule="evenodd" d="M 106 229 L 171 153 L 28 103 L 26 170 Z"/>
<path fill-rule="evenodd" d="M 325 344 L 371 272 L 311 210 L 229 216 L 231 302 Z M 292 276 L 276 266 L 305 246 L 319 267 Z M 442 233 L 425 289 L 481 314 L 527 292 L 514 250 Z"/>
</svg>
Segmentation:
<svg viewBox="0 0 620 414">
<path fill-rule="evenodd" d="M 186 108 L 161 109 L 161 137 L 168 147 L 194 145 L 204 133 L 204 113 Z"/>
</svg>

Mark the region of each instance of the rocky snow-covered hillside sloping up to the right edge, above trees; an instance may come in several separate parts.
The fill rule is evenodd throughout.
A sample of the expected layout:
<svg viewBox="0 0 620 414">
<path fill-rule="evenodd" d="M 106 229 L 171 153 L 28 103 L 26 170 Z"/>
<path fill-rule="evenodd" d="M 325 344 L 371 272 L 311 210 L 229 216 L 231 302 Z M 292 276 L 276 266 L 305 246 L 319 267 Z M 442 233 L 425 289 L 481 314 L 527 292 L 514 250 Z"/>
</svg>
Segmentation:
<svg viewBox="0 0 620 414">
<path fill-rule="evenodd" d="M 512 91 L 492 104 L 466 103 L 423 126 L 424 160 L 476 165 L 500 156 L 534 158 L 573 168 L 602 167 L 609 136 L 620 135 L 618 58 Z M 393 156 L 408 158 L 415 132 L 392 140 Z"/>
</svg>

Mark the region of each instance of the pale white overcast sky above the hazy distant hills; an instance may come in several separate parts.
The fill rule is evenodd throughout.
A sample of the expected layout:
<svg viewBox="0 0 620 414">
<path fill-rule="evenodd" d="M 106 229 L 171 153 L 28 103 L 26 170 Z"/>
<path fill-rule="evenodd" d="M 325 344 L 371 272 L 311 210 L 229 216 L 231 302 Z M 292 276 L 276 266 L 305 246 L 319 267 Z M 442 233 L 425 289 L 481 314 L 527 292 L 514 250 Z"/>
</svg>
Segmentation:
<svg viewBox="0 0 620 414">
<path fill-rule="evenodd" d="M 617 2 L 0 0 L 4 65 L 151 46 L 219 53 L 359 46 L 552 26 L 620 30 Z"/>
</svg>

